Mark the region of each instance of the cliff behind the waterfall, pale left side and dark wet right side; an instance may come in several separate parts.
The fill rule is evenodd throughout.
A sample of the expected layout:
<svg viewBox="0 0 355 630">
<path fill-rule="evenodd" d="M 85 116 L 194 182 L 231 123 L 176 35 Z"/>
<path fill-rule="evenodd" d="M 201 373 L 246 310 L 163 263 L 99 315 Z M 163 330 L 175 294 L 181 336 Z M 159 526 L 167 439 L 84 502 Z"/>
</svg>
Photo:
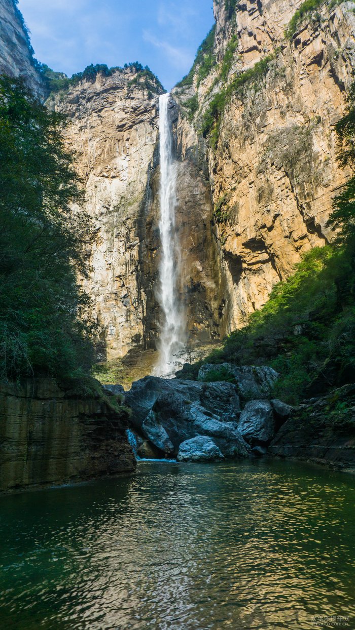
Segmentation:
<svg viewBox="0 0 355 630">
<path fill-rule="evenodd" d="M 148 93 L 127 69 L 99 74 L 95 83 L 83 81 L 48 101 L 73 121 L 68 140 L 78 152 L 86 207 L 96 226 L 86 290 L 102 325 L 103 355 L 110 359 L 134 347 L 154 348 L 158 335 L 158 93 L 158 86 L 154 95 Z M 169 109 L 174 124 L 173 101 Z M 219 333 L 223 290 L 208 174 L 203 176 L 194 151 L 183 159 L 177 136 L 175 129 L 181 290 L 193 335 L 210 340 Z"/>
</svg>

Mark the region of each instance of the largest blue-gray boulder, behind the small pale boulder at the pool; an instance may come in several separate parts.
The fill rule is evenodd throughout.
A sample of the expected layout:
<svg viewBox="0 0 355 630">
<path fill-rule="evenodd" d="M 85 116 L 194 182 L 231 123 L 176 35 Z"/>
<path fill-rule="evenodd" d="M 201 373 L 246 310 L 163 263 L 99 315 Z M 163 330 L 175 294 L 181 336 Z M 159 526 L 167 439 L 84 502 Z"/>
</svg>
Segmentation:
<svg viewBox="0 0 355 630">
<path fill-rule="evenodd" d="M 211 437 L 226 457 L 246 457 L 250 448 L 238 430 L 240 402 L 231 383 L 146 377 L 132 385 L 126 402 L 131 423 L 158 449 L 177 454 L 180 444 Z"/>
</svg>

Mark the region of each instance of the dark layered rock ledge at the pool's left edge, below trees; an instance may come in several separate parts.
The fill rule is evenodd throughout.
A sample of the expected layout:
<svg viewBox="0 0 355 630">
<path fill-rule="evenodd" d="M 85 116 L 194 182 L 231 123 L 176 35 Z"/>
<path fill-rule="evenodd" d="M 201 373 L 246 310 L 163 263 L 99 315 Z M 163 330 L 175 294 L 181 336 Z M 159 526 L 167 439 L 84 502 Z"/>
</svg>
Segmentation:
<svg viewBox="0 0 355 630">
<path fill-rule="evenodd" d="M 0 384 L 0 491 L 134 471 L 127 421 L 52 379 Z"/>
</svg>

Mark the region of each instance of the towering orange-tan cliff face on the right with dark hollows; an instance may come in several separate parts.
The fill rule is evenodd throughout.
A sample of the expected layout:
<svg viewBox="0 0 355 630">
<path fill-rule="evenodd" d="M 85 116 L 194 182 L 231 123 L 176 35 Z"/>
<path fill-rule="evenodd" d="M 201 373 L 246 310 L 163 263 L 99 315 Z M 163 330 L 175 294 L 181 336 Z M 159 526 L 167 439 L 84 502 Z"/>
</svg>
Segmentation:
<svg viewBox="0 0 355 630">
<path fill-rule="evenodd" d="M 192 87 L 175 90 L 182 111 L 188 98 L 198 96 L 194 127 L 199 129 L 212 98 L 228 89 L 236 73 L 273 57 L 267 71 L 251 73 L 228 95 L 216 146 L 207 135 L 216 232 L 229 291 L 227 329 L 240 326 L 305 251 L 331 236 L 325 224 L 332 197 L 347 176 L 336 162 L 334 123 L 344 112 L 355 66 L 351 3 L 318 9 L 291 40 L 284 30 L 300 3 L 232 5 L 214 3 L 212 70 L 198 87 L 195 72 Z M 230 50 L 234 44 L 234 52 L 222 81 L 228 44 Z"/>
</svg>

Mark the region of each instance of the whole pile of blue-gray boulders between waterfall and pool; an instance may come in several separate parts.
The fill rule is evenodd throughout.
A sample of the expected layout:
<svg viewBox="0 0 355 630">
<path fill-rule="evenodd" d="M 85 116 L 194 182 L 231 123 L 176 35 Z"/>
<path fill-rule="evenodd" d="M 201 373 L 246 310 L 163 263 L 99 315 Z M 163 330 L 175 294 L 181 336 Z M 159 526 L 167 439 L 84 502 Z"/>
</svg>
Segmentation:
<svg viewBox="0 0 355 630">
<path fill-rule="evenodd" d="M 206 382 L 221 368 L 233 383 Z M 270 367 L 206 364 L 197 381 L 147 376 L 134 382 L 125 403 L 132 409 L 137 454 L 199 462 L 264 454 L 291 413 L 270 399 L 277 377 Z"/>
</svg>

